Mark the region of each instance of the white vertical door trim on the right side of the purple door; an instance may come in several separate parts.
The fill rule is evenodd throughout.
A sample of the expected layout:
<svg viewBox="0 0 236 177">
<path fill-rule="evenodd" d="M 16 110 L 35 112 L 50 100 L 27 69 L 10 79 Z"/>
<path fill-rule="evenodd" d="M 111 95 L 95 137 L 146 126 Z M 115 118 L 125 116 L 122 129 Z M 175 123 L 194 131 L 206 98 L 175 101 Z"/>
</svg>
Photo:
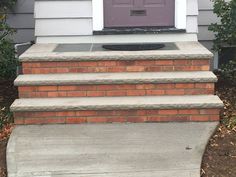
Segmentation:
<svg viewBox="0 0 236 177">
<path fill-rule="evenodd" d="M 178 29 L 186 29 L 186 0 L 175 1 L 175 27 Z"/>
</svg>

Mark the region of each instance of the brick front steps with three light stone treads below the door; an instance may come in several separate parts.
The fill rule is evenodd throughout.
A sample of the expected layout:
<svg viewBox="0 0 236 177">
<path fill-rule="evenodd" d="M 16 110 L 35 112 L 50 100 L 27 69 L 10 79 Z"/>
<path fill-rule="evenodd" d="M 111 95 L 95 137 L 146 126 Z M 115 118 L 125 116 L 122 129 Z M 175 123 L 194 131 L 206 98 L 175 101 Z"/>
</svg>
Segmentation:
<svg viewBox="0 0 236 177">
<path fill-rule="evenodd" d="M 218 121 L 212 54 L 197 42 L 175 50 L 55 52 L 35 45 L 20 58 L 16 124 Z"/>
</svg>

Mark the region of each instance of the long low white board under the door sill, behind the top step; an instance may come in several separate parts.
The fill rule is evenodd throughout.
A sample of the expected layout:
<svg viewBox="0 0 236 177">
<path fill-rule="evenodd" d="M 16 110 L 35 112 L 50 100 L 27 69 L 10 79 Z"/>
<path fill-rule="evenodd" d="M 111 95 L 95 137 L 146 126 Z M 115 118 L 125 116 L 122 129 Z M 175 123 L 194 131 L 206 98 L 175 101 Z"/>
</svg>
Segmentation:
<svg viewBox="0 0 236 177">
<path fill-rule="evenodd" d="M 197 41 L 196 34 L 137 34 L 95 36 L 41 36 L 37 43 L 143 43 Z"/>
</svg>

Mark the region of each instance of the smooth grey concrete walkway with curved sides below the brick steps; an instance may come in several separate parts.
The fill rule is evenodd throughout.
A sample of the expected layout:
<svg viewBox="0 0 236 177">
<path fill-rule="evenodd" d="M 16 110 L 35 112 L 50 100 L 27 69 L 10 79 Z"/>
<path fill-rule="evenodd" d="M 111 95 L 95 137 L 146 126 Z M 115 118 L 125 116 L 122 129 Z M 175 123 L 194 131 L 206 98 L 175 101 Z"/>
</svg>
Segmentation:
<svg viewBox="0 0 236 177">
<path fill-rule="evenodd" d="M 217 122 L 18 126 L 9 177 L 200 177 Z"/>
</svg>

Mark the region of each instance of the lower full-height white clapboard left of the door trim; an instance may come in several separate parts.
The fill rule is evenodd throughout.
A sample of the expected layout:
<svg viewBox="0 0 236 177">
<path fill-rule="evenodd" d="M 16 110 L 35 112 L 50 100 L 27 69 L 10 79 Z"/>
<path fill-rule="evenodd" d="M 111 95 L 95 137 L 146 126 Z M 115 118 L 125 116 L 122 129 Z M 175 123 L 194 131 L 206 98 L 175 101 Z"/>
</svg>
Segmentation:
<svg viewBox="0 0 236 177">
<path fill-rule="evenodd" d="M 91 19 L 37 19 L 36 36 L 92 35 Z"/>
</svg>

